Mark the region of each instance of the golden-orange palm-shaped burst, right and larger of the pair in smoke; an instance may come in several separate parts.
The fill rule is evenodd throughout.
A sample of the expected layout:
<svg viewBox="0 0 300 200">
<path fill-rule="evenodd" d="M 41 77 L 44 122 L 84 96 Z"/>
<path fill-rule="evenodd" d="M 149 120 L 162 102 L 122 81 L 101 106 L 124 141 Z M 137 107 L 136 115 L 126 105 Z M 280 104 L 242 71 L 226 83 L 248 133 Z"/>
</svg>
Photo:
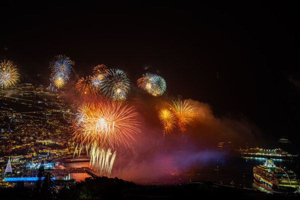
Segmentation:
<svg viewBox="0 0 300 200">
<path fill-rule="evenodd" d="M 177 125 L 179 129 L 183 132 L 186 130 L 187 124 L 190 124 L 193 121 L 193 117 L 196 116 L 195 107 L 188 104 L 186 100 L 175 100 L 171 104 L 172 111 L 174 112 L 175 117 L 177 118 Z"/>
</svg>

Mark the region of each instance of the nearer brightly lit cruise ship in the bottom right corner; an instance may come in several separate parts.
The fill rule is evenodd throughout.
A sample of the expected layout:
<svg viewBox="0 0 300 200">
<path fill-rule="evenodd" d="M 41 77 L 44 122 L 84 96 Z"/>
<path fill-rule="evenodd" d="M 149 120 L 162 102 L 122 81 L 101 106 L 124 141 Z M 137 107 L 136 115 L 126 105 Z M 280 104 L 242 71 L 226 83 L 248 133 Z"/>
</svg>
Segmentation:
<svg viewBox="0 0 300 200">
<path fill-rule="evenodd" d="M 270 190 L 279 192 L 293 192 L 299 186 L 296 174 L 277 167 L 269 157 L 263 164 L 253 167 L 254 182 Z"/>
</svg>

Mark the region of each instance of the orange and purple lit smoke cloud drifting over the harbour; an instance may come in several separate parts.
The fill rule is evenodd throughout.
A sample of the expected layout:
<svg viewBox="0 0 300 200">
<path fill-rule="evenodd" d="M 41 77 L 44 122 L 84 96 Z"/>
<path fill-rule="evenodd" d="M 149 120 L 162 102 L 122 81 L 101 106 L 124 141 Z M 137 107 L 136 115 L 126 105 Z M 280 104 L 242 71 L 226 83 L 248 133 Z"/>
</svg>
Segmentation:
<svg viewBox="0 0 300 200">
<path fill-rule="evenodd" d="M 130 147 L 117 150 L 112 176 L 142 184 L 173 184 L 191 167 L 222 160 L 228 152 L 216 148 L 219 141 L 243 145 L 258 137 L 258 128 L 245 119 L 216 117 L 209 104 L 192 99 L 188 103 L 196 108 L 194 122 L 184 133 L 174 130 L 165 136 L 155 109 L 150 108 L 157 101 L 139 103 L 141 133 Z"/>
</svg>

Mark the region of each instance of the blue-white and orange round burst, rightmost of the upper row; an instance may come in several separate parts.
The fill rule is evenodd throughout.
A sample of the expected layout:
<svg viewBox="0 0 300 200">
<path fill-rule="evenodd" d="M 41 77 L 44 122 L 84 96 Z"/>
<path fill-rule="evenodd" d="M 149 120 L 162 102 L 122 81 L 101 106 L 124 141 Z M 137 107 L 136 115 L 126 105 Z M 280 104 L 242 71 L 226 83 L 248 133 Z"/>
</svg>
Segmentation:
<svg viewBox="0 0 300 200">
<path fill-rule="evenodd" d="M 167 89 L 165 79 L 152 73 L 144 74 L 143 77 L 137 80 L 137 85 L 153 96 L 160 96 Z"/>
</svg>

